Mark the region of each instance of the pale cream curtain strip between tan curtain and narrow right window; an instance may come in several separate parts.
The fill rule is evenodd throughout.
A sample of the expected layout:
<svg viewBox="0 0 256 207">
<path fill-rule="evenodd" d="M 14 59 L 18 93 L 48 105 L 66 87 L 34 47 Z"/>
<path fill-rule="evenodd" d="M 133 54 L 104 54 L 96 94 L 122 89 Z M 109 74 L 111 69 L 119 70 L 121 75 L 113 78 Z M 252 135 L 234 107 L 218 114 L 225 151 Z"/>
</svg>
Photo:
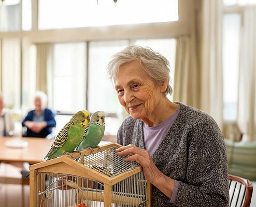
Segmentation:
<svg viewBox="0 0 256 207">
<path fill-rule="evenodd" d="M 202 1 L 201 109 L 222 129 L 222 0 Z"/>
</svg>

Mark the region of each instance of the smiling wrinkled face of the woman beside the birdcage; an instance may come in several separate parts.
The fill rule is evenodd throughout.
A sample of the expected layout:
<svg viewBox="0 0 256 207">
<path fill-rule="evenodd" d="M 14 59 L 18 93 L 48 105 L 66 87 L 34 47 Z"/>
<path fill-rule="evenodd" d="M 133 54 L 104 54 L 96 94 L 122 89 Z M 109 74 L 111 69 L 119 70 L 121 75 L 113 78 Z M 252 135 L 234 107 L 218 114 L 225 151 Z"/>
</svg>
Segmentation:
<svg viewBox="0 0 256 207">
<path fill-rule="evenodd" d="M 138 61 L 121 65 L 114 83 L 120 104 L 134 119 L 151 120 L 156 115 L 165 90 L 154 84 Z"/>
</svg>

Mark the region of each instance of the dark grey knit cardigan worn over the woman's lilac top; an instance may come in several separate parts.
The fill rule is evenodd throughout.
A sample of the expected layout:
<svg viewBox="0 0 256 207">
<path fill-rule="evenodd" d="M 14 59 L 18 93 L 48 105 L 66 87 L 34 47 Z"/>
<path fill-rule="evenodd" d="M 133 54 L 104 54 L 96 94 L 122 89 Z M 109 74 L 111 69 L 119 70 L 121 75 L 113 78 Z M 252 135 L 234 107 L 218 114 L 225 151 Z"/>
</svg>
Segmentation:
<svg viewBox="0 0 256 207">
<path fill-rule="evenodd" d="M 158 169 L 179 181 L 175 203 L 152 186 L 151 206 L 228 206 L 229 180 L 223 135 L 211 116 L 183 105 L 152 156 Z M 126 117 L 117 135 L 121 145 L 145 149 L 143 122 Z"/>
</svg>

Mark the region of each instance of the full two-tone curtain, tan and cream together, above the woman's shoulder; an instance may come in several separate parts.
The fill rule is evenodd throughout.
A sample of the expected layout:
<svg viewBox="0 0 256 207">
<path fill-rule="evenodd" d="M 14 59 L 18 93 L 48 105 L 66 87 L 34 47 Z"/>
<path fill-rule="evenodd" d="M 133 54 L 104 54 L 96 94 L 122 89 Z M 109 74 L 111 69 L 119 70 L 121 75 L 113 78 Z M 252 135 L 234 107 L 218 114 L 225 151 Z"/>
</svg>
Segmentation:
<svg viewBox="0 0 256 207">
<path fill-rule="evenodd" d="M 222 0 L 195 3 L 191 36 L 177 39 L 174 100 L 209 113 L 222 129 Z"/>
</svg>

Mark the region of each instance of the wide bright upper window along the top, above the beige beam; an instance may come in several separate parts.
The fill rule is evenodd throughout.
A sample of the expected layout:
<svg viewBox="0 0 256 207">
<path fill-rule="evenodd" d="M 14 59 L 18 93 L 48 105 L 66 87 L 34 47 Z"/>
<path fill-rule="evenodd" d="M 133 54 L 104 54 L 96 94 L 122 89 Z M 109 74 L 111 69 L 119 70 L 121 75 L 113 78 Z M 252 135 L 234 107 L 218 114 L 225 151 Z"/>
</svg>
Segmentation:
<svg viewBox="0 0 256 207">
<path fill-rule="evenodd" d="M 116 4 L 111 0 L 39 0 L 39 29 L 177 20 L 177 0 L 118 0 Z"/>
</svg>

